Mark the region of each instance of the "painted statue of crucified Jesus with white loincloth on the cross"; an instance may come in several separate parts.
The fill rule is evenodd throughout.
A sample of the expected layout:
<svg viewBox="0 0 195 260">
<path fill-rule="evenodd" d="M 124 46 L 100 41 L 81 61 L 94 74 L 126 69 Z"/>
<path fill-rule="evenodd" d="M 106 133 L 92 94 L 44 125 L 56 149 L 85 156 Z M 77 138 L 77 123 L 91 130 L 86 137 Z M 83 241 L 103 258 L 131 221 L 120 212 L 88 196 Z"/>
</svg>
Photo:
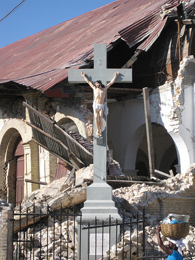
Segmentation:
<svg viewBox="0 0 195 260">
<path fill-rule="evenodd" d="M 108 107 L 106 102 L 104 103 L 105 96 L 106 96 L 106 89 L 108 89 L 113 83 L 115 83 L 119 72 L 115 72 L 115 77 L 107 84 L 103 85 L 101 80 L 97 80 L 94 83 L 90 81 L 85 73 L 82 71 L 81 75 L 84 80 L 90 85 L 90 87 L 94 91 L 94 102 L 93 102 L 93 109 L 94 109 L 94 116 L 95 116 L 95 123 L 97 127 L 97 137 L 102 137 L 102 127 L 103 127 L 103 113 L 107 116 L 108 115 Z"/>
</svg>

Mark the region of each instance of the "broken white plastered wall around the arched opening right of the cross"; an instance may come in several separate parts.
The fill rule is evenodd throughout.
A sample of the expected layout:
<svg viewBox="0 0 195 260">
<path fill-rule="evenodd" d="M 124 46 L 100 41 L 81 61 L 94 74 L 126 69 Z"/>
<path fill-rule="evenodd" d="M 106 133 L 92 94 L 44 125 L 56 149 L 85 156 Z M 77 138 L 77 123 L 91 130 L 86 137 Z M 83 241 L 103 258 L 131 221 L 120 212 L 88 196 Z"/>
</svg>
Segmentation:
<svg viewBox="0 0 195 260">
<path fill-rule="evenodd" d="M 188 56 L 180 63 L 175 81 L 157 87 L 150 94 L 151 120 L 165 127 L 174 140 L 178 172 L 184 173 L 194 163 L 194 81 L 195 59 Z M 108 136 L 112 140 L 116 160 L 122 169 L 135 169 L 137 149 L 144 135 L 145 114 L 143 98 L 109 104 Z M 157 149 L 163 149 L 166 141 L 159 142 Z M 147 146 L 144 151 L 147 154 Z M 162 155 L 163 158 L 163 155 Z M 156 163 L 156 169 L 160 160 Z"/>
</svg>

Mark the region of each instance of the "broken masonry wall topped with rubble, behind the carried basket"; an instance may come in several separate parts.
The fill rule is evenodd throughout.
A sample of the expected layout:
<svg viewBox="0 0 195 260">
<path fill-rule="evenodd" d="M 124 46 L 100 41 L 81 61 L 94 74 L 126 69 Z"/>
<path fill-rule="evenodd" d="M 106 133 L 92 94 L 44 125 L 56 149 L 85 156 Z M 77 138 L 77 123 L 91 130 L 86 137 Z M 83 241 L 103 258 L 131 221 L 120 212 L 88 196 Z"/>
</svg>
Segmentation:
<svg viewBox="0 0 195 260">
<path fill-rule="evenodd" d="M 190 224 L 195 225 L 195 164 L 185 174 L 163 180 L 163 186 L 134 184 L 113 191 L 115 200 L 124 198 L 132 205 L 160 221 L 170 213 L 189 215 Z"/>
</svg>

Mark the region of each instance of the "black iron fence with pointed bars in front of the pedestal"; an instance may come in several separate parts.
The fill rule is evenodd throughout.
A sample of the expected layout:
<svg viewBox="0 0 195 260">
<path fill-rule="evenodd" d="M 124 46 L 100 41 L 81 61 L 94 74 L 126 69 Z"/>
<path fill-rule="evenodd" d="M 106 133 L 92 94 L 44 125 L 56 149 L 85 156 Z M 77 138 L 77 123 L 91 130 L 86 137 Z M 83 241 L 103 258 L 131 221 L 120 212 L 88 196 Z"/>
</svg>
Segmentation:
<svg viewBox="0 0 195 260">
<path fill-rule="evenodd" d="M 144 209 L 142 216 L 145 216 Z M 49 207 L 39 209 L 33 205 L 26 210 L 20 207 L 20 210 L 14 213 L 13 259 L 84 260 L 81 252 L 83 244 L 88 246 L 88 256 L 85 260 L 101 258 L 134 260 L 140 254 L 143 256 L 145 252 L 145 219 L 143 217 L 137 215 L 128 219 L 123 216 L 122 220 L 115 221 L 110 217 L 101 222 L 96 218 L 80 226 L 80 232 L 78 232 L 76 220 L 82 222 L 82 216 L 76 213 L 75 208 L 69 211 L 60 208 L 56 212 L 50 212 Z M 114 246 L 110 243 L 111 232 L 108 231 L 112 227 L 118 227 Z M 95 241 L 93 252 L 89 250 L 92 229 Z M 97 232 L 99 229 L 101 232 Z M 81 241 L 78 238 L 78 234 L 84 230 L 89 234 L 87 241 Z M 99 255 L 101 257 L 97 258 Z"/>
</svg>

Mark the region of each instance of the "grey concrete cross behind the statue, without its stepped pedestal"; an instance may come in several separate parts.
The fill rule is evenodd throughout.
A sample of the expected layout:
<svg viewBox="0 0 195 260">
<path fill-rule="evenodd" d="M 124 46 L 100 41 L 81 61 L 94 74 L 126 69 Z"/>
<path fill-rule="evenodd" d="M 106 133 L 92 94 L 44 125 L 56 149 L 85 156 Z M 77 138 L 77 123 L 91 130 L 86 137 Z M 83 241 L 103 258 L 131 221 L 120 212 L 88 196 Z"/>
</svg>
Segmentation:
<svg viewBox="0 0 195 260">
<path fill-rule="evenodd" d="M 70 83 L 86 83 L 81 71 L 90 81 L 101 80 L 106 85 L 119 71 L 120 75 L 115 82 L 132 82 L 132 69 L 108 69 L 106 44 L 94 44 L 94 69 L 69 69 L 68 81 Z M 106 101 L 106 98 L 105 98 Z M 94 119 L 94 183 L 106 182 L 107 161 L 107 123 L 103 116 L 102 138 L 96 137 L 96 124 Z"/>
</svg>

